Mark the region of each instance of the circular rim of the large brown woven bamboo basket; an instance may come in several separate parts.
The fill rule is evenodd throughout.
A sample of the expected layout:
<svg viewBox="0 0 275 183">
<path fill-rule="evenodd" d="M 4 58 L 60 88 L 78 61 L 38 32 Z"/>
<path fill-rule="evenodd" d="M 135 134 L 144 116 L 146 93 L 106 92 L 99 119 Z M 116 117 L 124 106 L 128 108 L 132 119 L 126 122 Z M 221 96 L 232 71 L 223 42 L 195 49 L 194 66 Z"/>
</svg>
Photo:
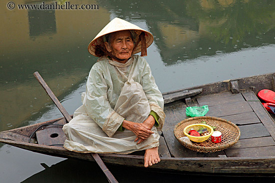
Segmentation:
<svg viewBox="0 0 275 183">
<path fill-rule="evenodd" d="M 201 146 L 194 146 L 193 144 L 187 144 L 185 142 L 181 142 L 179 141 L 179 139 L 176 137 L 175 135 L 175 131 L 177 129 L 178 126 L 180 126 L 181 124 L 185 123 L 185 122 L 189 122 L 189 121 L 193 121 L 193 120 L 197 120 L 197 119 L 211 119 L 211 120 L 218 120 L 218 121 L 221 121 L 221 122 L 225 122 L 225 123 L 228 123 L 229 125 L 233 126 L 235 129 L 237 129 L 238 131 L 238 136 L 235 138 L 235 140 L 225 144 L 225 145 L 221 145 L 221 146 L 217 146 L 217 147 L 201 147 Z M 181 122 L 178 122 L 175 127 L 174 127 L 174 130 L 173 130 L 173 134 L 174 134 L 174 137 L 177 139 L 177 141 L 181 144 L 183 143 L 185 147 L 189 148 L 189 149 L 196 149 L 196 150 L 206 150 L 206 151 L 209 151 L 211 152 L 212 150 L 223 150 L 223 149 L 226 149 L 228 147 L 231 147 L 233 146 L 238 140 L 239 140 L 239 137 L 240 137 L 240 130 L 238 128 L 238 126 L 236 126 L 235 124 L 233 124 L 232 122 L 228 121 L 228 120 L 225 120 L 225 119 L 222 119 L 222 118 L 218 118 L 218 117 L 213 117 L 213 116 L 199 116 L 199 117 L 191 117 L 191 118 L 187 118 L 185 120 L 182 120 Z"/>
</svg>

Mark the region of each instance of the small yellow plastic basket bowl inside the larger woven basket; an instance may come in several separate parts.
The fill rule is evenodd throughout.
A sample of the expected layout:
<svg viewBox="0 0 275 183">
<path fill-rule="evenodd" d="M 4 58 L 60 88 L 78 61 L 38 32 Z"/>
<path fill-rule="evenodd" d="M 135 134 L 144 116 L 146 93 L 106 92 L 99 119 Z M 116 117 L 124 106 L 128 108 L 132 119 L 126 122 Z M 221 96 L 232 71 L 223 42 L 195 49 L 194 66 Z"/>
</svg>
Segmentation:
<svg viewBox="0 0 275 183">
<path fill-rule="evenodd" d="M 196 137 L 196 136 L 191 136 L 188 134 L 188 132 L 191 129 L 194 129 L 195 131 L 198 131 L 201 127 L 206 128 L 208 132 L 210 132 L 208 135 L 205 136 L 200 136 L 200 137 Z M 185 136 L 187 136 L 191 141 L 193 142 L 204 142 L 206 141 L 214 132 L 213 128 L 210 127 L 209 125 L 204 125 L 204 124 L 192 124 L 192 125 L 188 125 L 183 129 L 183 133 Z"/>
</svg>

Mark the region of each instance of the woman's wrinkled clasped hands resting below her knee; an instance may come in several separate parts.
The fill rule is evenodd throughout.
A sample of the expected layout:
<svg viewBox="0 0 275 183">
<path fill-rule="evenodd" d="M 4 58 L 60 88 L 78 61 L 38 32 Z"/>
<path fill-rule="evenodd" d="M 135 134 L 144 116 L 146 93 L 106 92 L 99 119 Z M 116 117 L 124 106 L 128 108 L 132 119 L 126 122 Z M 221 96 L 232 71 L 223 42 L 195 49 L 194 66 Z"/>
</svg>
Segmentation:
<svg viewBox="0 0 275 183">
<path fill-rule="evenodd" d="M 139 139 L 139 141 L 136 144 L 140 144 L 145 139 L 147 139 L 151 134 L 154 133 L 154 132 L 150 131 L 152 126 L 150 127 L 149 122 L 144 124 L 144 122 L 143 123 L 134 123 L 131 121 L 124 120 L 122 123 L 122 127 L 124 127 L 127 130 L 132 131 L 136 135 L 136 139 L 134 140 L 134 142 L 136 142 Z"/>
</svg>

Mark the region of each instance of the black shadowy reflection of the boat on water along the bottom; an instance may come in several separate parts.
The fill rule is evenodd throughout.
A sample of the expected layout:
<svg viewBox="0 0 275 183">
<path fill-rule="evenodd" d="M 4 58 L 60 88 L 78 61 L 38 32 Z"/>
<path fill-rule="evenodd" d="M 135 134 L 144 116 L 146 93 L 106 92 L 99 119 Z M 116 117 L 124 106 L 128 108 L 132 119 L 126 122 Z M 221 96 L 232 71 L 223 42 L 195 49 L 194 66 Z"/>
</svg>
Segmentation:
<svg viewBox="0 0 275 183">
<path fill-rule="evenodd" d="M 51 167 L 42 163 L 41 166 L 45 169 L 30 178 L 24 180 L 22 183 L 75 183 L 73 180 L 77 180 L 77 183 L 107 183 L 104 174 L 99 171 L 99 167 L 93 162 L 83 162 L 75 160 L 65 160 Z M 64 170 L 63 168 L 66 167 Z M 75 168 L 77 167 L 78 174 L 75 174 Z M 197 183 L 198 179 L 211 180 L 211 183 L 231 183 L 245 182 L 247 180 L 251 182 L 259 181 L 271 181 L 273 178 L 261 178 L 261 177 L 224 177 L 224 176 L 210 176 L 210 175 L 191 175 L 191 174 L 169 174 L 168 172 L 155 172 L 146 169 L 139 169 L 138 173 L 136 169 L 122 166 L 108 165 L 108 169 L 114 175 L 119 183 Z M 95 173 L 96 172 L 96 176 Z M 127 172 L 127 176 L 121 176 L 121 173 Z M 184 181 L 183 181 L 184 180 Z"/>
</svg>

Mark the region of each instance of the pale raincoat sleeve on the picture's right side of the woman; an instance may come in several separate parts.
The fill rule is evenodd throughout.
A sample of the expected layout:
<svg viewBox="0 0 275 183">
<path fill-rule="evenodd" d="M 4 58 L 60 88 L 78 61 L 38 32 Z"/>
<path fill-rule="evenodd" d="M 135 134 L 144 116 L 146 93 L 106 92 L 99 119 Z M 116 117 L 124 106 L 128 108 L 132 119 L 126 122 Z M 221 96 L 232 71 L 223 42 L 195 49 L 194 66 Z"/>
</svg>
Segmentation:
<svg viewBox="0 0 275 183">
<path fill-rule="evenodd" d="M 141 57 L 141 59 L 144 59 L 144 58 Z M 157 127 L 157 130 L 161 130 L 164 125 L 164 119 L 165 119 L 165 114 L 163 112 L 163 107 L 164 107 L 163 97 L 158 87 L 155 84 L 154 78 L 151 73 L 151 69 L 145 59 L 143 64 L 144 64 L 144 68 L 141 75 L 142 76 L 141 85 L 146 95 L 146 98 L 148 99 L 148 102 L 150 104 L 150 109 L 159 116 L 159 120 L 158 120 L 159 126 Z"/>
</svg>

